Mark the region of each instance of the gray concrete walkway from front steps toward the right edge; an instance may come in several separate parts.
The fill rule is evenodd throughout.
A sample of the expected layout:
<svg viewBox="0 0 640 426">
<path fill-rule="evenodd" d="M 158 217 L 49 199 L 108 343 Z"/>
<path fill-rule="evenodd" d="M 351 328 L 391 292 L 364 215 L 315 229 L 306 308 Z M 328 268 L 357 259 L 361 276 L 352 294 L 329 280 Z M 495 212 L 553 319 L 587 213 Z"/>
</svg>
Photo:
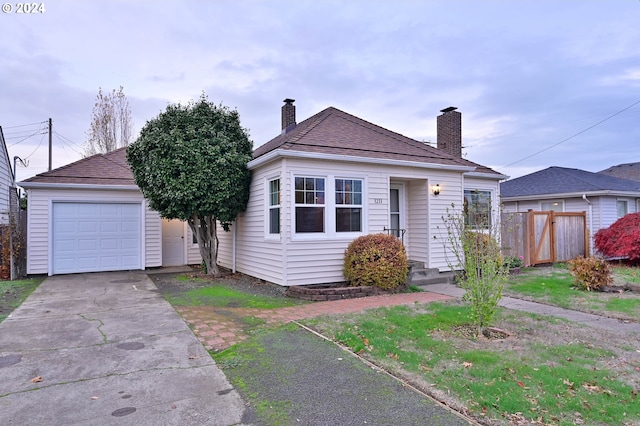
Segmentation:
<svg viewBox="0 0 640 426">
<path fill-rule="evenodd" d="M 462 297 L 465 292 L 463 289 L 453 284 L 432 284 L 422 286 L 421 288 L 424 291 L 451 297 Z M 607 318 L 600 315 L 572 311 L 570 309 L 558 308 L 556 306 L 545 305 L 542 303 L 528 302 L 526 300 L 516 299 L 513 297 L 503 297 L 500 300 L 499 305 L 504 308 L 514 309 L 517 311 L 565 318 L 570 321 L 601 330 L 640 334 L 640 323 L 637 322 L 623 321 L 616 318 Z"/>
</svg>

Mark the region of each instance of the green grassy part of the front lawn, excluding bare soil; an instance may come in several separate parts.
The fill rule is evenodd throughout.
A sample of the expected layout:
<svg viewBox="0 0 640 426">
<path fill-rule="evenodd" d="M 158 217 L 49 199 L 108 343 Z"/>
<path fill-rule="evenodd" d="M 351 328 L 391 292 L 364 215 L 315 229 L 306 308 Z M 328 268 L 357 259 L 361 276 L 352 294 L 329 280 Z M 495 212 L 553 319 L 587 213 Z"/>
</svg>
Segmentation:
<svg viewBox="0 0 640 426">
<path fill-rule="evenodd" d="M 522 413 L 530 421 L 571 425 L 580 413 L 582 424 L 640 421 L 638 389 L 606 368 L 614 357 L 609 348 L 581 341 L 523 341 L 517 350 L 499 342 L 477 349 L 473 339 L 455 338 L 456 327 L 467 323 L 468 307 L 431 304 L 427 309 L 418 313 L 394 307 L 305 322 L 379 365 L 409 372 L 452 393 L 477 417 L 501 419 Z M 513 314 L 508 315 L 513 321 Z M 553 326 L 541 317 L 535 321 L 540 327 Z"/>
</svg>

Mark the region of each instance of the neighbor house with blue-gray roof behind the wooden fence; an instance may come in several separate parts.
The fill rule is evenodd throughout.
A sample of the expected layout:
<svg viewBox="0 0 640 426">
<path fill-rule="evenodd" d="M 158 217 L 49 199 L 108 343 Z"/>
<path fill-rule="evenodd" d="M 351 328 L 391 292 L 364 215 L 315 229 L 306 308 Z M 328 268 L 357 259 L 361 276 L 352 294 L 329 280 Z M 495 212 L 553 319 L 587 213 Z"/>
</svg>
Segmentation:
<svg viewBox="0 0 640 426">
<path fill-rule="evenodd" d="M 640 211 L 640 182 L 565 167 L 502 182 L 500 196 L 504 212 L 586 212 L 591 236 Z"/>
</svg>

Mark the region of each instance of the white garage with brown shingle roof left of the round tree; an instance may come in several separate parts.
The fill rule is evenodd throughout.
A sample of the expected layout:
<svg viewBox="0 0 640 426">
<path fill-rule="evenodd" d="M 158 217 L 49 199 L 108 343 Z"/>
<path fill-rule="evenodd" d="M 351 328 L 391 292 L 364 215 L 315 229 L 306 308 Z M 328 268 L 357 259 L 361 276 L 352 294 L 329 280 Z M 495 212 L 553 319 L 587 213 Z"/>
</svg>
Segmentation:
<svg viewBox="0 0 640 426">
<path fill-rule="evenodd" d="M 28 200 L 27 274 L 162 266 L 162 220 L 135 184 L 125 148 L 41 173 L 20 186 Z"/>
</svg>

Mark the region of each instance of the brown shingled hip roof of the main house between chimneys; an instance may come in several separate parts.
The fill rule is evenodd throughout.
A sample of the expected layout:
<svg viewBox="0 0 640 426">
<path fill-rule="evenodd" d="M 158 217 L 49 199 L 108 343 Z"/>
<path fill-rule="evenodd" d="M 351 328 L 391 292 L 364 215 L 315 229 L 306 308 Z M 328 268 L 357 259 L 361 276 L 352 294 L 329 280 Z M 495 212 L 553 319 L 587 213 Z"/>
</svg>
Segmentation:
<svg viewBox="0 0 640 426">
<path fill-rule="evenodd" d="M 477 173 L 505 178 L 488 167 L 456 158 L 334 107 L 320 111 L 256 148 L 253 157 L 257 159 L 275 150 L 471 167 Z"/>
</svg>

